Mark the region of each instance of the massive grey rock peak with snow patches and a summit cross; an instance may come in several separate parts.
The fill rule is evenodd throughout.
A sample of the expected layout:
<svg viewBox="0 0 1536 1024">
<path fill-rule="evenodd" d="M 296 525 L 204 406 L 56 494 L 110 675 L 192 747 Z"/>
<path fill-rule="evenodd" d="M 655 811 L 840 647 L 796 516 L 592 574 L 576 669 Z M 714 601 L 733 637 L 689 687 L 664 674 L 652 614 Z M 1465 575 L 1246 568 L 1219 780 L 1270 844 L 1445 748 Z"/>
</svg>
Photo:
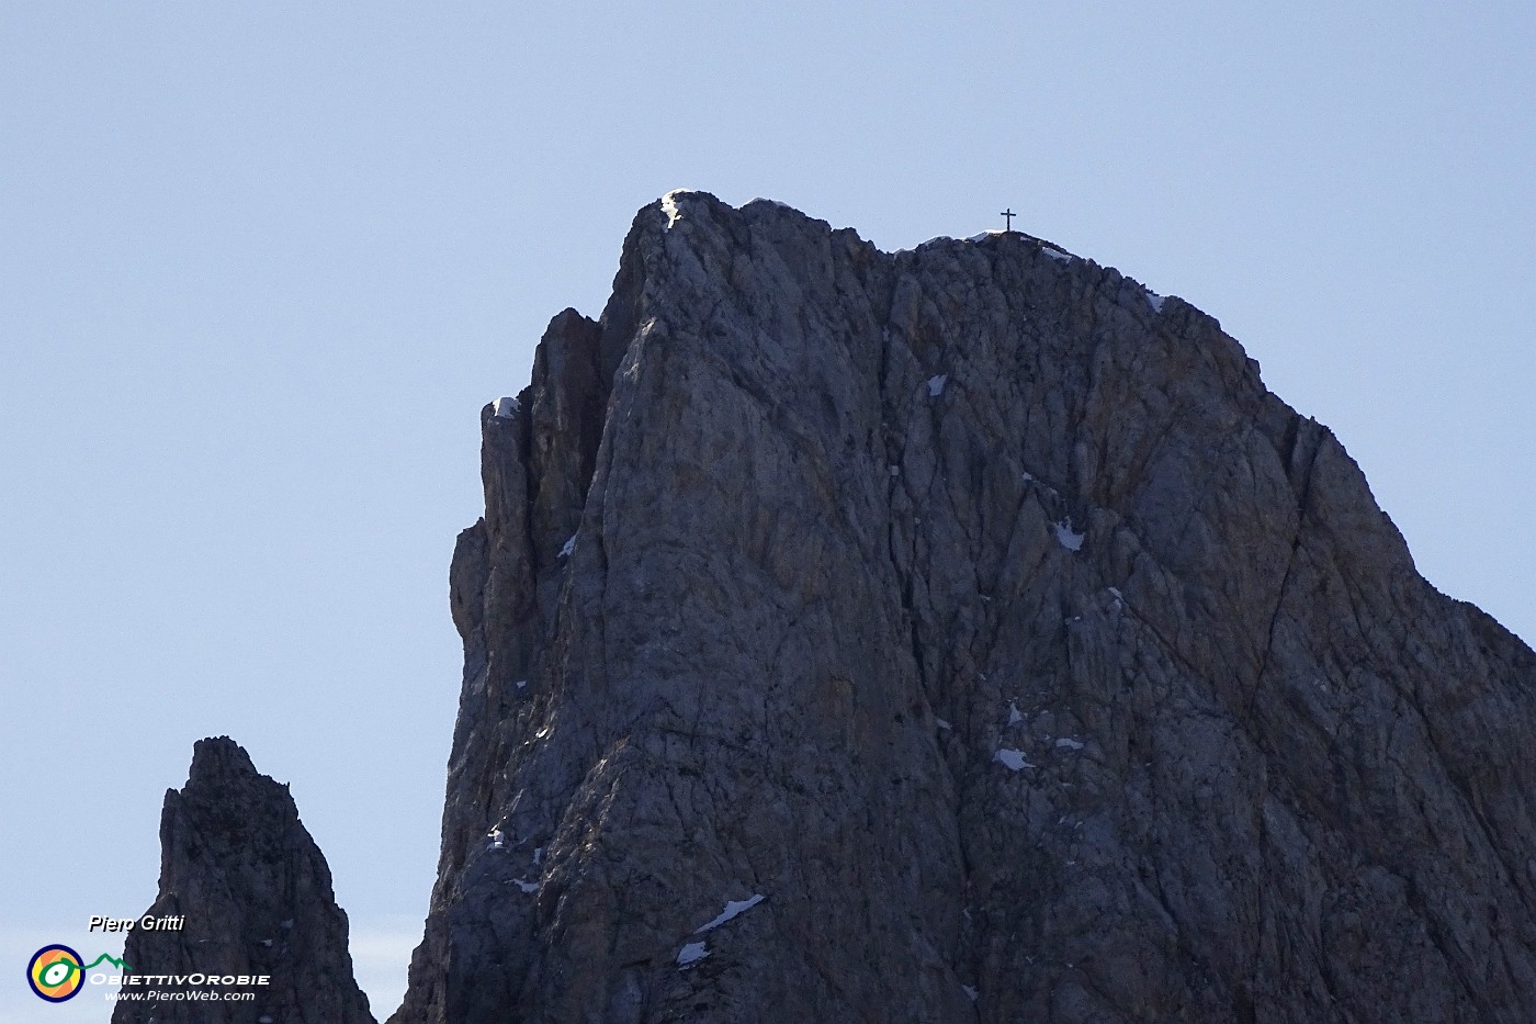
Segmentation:
<svg viewBox="0 0 1536 1024">
<path fill-rule="evenodd" d="M 1536 657 L 1187 303 L 673 194 L 481 423 L 392 1021 L 1530 1019 Z"/>
</svg>

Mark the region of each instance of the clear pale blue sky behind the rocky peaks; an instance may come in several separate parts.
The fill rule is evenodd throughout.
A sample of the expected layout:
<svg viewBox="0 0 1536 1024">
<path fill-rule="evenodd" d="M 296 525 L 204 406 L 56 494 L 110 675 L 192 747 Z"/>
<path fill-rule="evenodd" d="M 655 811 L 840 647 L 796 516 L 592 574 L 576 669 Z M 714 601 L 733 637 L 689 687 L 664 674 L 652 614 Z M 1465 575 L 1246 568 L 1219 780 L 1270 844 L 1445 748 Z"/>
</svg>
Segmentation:
<svg viewBox="0 0 1536 1024">
<path fill-rule="evenodd" d="M 214 733 L 292 783 L 393 1009 L 479 407 L 674 186 L 888 249 L 1011 204 L 1218 317 L 1536 638 L 1531 5 L 273 6 L 0 3 L 5 1019 L 154 898 Z"/>
</svg>

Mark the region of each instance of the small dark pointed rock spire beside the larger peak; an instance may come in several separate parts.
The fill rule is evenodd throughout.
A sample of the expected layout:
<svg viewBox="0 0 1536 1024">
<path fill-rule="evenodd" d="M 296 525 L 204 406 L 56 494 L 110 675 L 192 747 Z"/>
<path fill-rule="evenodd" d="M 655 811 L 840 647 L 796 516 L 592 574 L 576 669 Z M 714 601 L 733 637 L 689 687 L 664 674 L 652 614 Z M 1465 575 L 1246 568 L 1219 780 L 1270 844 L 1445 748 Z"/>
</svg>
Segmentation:
<svg viewBox="0 0 1536 1024">
<path fill-rule="evenodd" d="M 112 1024 L 373 1024 L 352 978 L 347 915 L 330 870 L 298 820 L 287 786 L 260 775 L 227 736 L 200 740 L 181 792 L 160 818 L 155 918 L 181 930 L 127 933 L 123 959 L 137 975 L 267 975 L 269 984 L 124 986 L 172 998 L 120 1001 Z M 184 992 L 253 992 L 253 1001 L 175 999 Z"/>
</svg>

